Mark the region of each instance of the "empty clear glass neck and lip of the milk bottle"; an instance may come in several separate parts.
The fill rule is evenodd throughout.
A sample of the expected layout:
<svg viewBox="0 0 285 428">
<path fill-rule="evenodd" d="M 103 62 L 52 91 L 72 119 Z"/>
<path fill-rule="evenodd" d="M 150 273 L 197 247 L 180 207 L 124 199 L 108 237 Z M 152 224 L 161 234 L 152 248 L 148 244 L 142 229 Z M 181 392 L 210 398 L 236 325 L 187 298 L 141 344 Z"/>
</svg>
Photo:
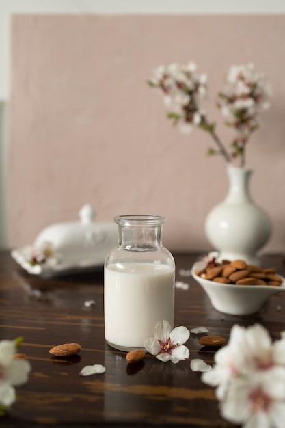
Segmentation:
<svg viewBox="0 0 285 428">
<path fill-rule="evenodd" d="M 154 215 L 116 217 L 118 247 L 124 250 L 148 251 L 162 246 L 164 217 Z"/>
</svg>

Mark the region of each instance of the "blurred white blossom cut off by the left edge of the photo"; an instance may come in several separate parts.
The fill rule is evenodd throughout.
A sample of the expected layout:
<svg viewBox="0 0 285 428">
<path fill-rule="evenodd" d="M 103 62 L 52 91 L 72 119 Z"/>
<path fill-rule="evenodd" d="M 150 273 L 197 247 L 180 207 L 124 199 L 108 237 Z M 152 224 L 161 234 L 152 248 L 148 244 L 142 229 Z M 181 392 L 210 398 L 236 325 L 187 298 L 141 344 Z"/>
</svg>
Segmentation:
<svg viewBox="0 0 285 428">
<path fill-rule="evenodd" d="M 31 365 L 27 360 L 15 360 L 16 345 L 20 340 L 0 342 L 0 405 L 8 407 L 16 401 L 14 386 L 25 384 Z"/>
</svg>

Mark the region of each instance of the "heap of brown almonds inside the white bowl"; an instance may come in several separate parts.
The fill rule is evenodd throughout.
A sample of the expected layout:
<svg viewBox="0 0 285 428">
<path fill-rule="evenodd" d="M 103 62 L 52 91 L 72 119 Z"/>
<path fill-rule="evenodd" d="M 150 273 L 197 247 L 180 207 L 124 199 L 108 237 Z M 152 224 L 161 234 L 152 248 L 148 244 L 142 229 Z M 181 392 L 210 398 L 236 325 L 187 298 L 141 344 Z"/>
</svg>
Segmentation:
<svg viewBox="0 0 285 428">
<path fill-rule="evenodd" d="M 201 271 L 195 271 L 195 274 L 206 280 L 222 284 L 271 286 L 282 284 L 282 278 L 277 275 L 274 267 L 262 269 L 256 265 L 248 265 L 244 260 L 232 262 L 223 260 L 221 263 L 215 263 Z"/>
</svg>

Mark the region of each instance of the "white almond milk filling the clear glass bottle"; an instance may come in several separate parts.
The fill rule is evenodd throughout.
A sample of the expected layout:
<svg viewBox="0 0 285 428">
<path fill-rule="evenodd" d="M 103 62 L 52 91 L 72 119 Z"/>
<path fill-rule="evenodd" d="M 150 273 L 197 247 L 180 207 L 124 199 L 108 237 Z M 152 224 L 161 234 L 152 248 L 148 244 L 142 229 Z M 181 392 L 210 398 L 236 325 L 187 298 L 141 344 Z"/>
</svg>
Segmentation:
<svg viewBox="0 0 285 428">
<path fill-rule="evenodd" d="M 143 348 L 157 321 L 174 326 L 175 269 L 159 263 L 105 267 L 105 339 L 117 349 Z"/>
</svg>

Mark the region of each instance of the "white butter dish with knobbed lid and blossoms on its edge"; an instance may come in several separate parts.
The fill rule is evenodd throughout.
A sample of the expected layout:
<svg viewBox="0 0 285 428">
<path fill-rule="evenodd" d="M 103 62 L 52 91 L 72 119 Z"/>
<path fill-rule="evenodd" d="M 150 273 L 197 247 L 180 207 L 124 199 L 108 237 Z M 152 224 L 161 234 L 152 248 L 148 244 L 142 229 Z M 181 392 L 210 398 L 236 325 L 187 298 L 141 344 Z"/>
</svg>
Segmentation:
<svg viewBox="0 0 285 428">
<path fill-rule="evenodd" d="M 11 255 L 29 273 L 55 276 L 104 265 L 116 244 L 116 224 L 96 222 L 93 207 L 85 204 L 78 221 L 47 226 L 32 245 L 14 249 Z"/>
</svg>

